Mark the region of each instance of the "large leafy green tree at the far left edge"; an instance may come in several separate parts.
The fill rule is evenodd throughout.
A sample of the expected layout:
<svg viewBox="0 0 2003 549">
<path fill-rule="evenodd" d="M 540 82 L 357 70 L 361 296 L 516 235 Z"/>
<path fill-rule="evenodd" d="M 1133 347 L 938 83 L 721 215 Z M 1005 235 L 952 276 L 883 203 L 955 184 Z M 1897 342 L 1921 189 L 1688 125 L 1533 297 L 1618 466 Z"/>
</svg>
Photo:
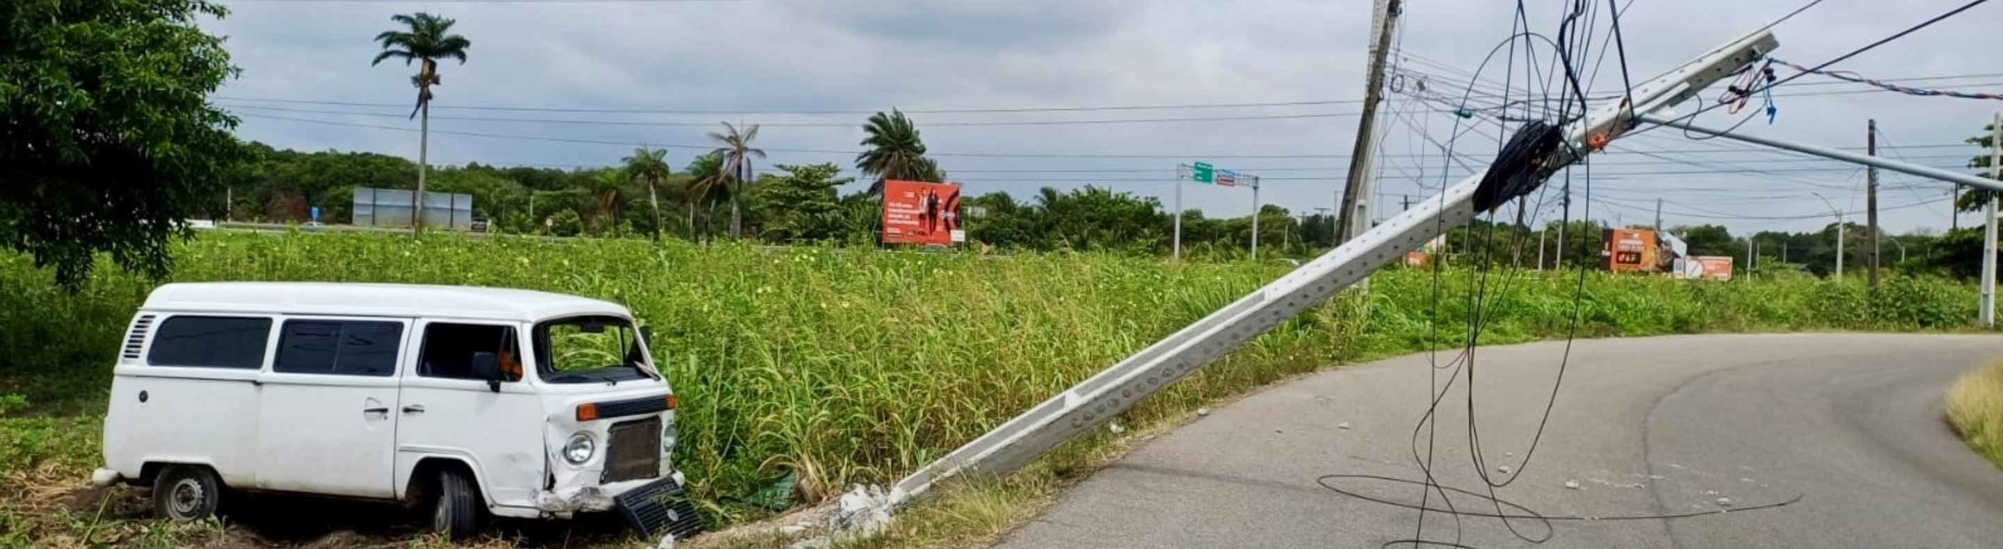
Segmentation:
<svg viewBox="0 0 2003 549">
<path fill-rule="evenodd" d="M 0 242 L 76 291 L 98 252 L 162 279 L 246 148 L 208 104 L 238 74 L 204 0 L 0 2 Z"/>
</svg>

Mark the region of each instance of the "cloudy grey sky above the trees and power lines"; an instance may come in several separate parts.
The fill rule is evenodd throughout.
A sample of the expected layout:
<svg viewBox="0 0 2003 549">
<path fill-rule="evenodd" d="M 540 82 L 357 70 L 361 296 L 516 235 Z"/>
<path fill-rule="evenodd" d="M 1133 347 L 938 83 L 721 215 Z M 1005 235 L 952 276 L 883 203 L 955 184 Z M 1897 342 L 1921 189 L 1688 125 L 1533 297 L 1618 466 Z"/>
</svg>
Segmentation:
<svg viewBox="0 0 2003 549">
<path fill-rule="evenodd" d="M 601 166 L 639 144 L 667 146 L 685 166 L 717 122 L 763 124 L 769 164 L 853 164 L 867 112 L 903 108 L 953 180 L 969 192 L 1028 196 L 1040 186 L 1100 184 L 1172 204 L 1176 166 L 1206 160 L 1260 174 L 1262 202 L 1302 214 L 1334 206 L 1356 134 L 1370 36 L 1368 0 L 222 0 L 206 22 L 228 36 L 242 76 L 216 102 L 242 116 L 240 134 L 280 148 L 417 156 L 407 120 L 411 68 L 371 66 L 371 38 L 391 14 L 435 12 L 473 40 L 467 64 L 445 64 L 433 108 L 437 164 Z M 1378 210 L 1396 210 L 1458 180 L 1492 154 L 1496 126 L 1452 114 L 1470 74 L 1512 34 L 1514 2 L 1412 0 L 1396 36 L 1396 92 L 1386 102 Z M 1560 0 L 1530 0 L 1528 28 L 1554 34 Z M 1795 10 L 1801 2 L 1622 0 L 1626 64 L 1654 76 Z M 1775 58 L 1821 64 L 1965 0 L 1829 0 L 1775 26 Z M 1592 92 L 1618 92 L 1618 56 L 1598 48 L 1610 8 L 1594 20 Z M 2003 90 L 2003 4 L 1855 56 L 1833 68 L 1965 92 Z M 1989 22 L 1987 28 L 1983 22 Z M 1606 56 L 1598 52 L 1606 50 Z M 1496 104 L 1508 80 L 1542 98 L 1542 76 L 1494 56 L 1474 104 Z M 1552 48 L 1536 42 L 1536 70 Z M 1775 66 L 1777 74 L 1795 70 Z M 1512 76 L 1514 74 L 1514 76 Z M 1927 80 L 1905 80 L 1927 78 Z M 1420 92 L 1424 88 L 1424 92 Z M 1723 86 L 1715 86 L 1715 96 Z M 1999 100 L 1869 92 L 1825 76 L 1775 90 L 1773 124 L 1745 132 L 1861 148 L 1879 120 L 1889 156 L 1961 168 Z M 1588 92 L 1590 94 L 1590 92 Z M 1709 98 L 1707 96 L 1707 98 Z M 1256 104 L 1256 106 L 1246 106 Z M 1723 108 L 1699 118 L 1731 126 Z M 1158 108 L 1160 106 L 1160 108 Z M 621 112 L 607 112 L 621 110 Z M 987 112 L 979 112 L 987 110 Z M 1006 110 L 1006 112 L 993 112 Z M 1522 114 L 1520 110 L 1516 110 Z M 1689 112 L 1685 108 L 1683 112 Z M 1202 118 L 1202 120 L 1190 120 Z M 1458 138 L 1456 124 L 1464 130 Z M 1434 144 L 1438 142 L 1438 144 Z M 1442 154 L 1450 144 L 1454 158 Z M 1735 232 L 1815 230 L 1831 206 L 1863 218 L 1855 166 L 1803 160 L 1729 140 L 1654 130 L 1594 160 L 1592 218 L 1666 224 L 1723 222 Z M 761 166 L 761 168 L 765 168 Z M 1586 182 L 1574 176 L 1580 216 Z M 1881 178 L 1889 230 L 1943 230 L 1947 184 Z M 1821 194 L 1817 198 L 1815 194 Z M 1250 188 L 1184 186 L 1184 204 L 1244 214 Z M 1556 216 L 1548 198 L 1546 218 Z M 1963 224 L 1975 222 L 1965 214 Z"/>
</svg>

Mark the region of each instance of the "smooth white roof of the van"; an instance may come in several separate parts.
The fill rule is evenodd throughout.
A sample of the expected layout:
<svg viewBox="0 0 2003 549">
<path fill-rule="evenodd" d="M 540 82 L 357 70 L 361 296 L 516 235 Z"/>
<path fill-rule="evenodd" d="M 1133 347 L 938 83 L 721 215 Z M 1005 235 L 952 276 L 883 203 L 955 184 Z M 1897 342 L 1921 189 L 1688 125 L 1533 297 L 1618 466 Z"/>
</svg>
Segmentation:
<svg viewBox="0 0 2003 549">
<path fill-rule="evenodd" d="M 174 283 L 146 297 L 148 311 L 543 321 L 573 315 L 631 317 L 615 303 L 559 293 L 373 283 Z"/>
</svg>

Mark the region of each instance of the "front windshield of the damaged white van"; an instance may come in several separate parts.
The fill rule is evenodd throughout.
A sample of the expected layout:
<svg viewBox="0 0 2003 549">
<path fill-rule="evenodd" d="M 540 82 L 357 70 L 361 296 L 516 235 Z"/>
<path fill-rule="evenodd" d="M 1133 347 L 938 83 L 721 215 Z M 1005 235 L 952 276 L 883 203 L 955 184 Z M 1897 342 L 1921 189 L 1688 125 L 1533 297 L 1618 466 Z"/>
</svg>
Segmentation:
<svg viewBox="0 0 2003 549">
<path fill-rule="evenodd" d="M 655 379 L 633 323 L 617 317 L 573 317 L 535 327 L 537 373 L 545 383 L 607 383 Z"/>
</svg>

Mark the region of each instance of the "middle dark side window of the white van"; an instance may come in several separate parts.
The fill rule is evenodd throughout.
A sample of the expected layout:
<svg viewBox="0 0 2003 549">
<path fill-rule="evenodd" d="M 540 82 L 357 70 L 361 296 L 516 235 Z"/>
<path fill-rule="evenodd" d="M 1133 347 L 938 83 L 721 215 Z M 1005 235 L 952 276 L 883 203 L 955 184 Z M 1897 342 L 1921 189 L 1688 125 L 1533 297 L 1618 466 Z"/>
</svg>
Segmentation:
<svg viewBox="0 0 2003 549">
<path fill-rule="evenodd" d="M 381 321 L 284 321 L 276 373 L 371 375 L 397 371 L 403 325 Z"/>
</svg>

